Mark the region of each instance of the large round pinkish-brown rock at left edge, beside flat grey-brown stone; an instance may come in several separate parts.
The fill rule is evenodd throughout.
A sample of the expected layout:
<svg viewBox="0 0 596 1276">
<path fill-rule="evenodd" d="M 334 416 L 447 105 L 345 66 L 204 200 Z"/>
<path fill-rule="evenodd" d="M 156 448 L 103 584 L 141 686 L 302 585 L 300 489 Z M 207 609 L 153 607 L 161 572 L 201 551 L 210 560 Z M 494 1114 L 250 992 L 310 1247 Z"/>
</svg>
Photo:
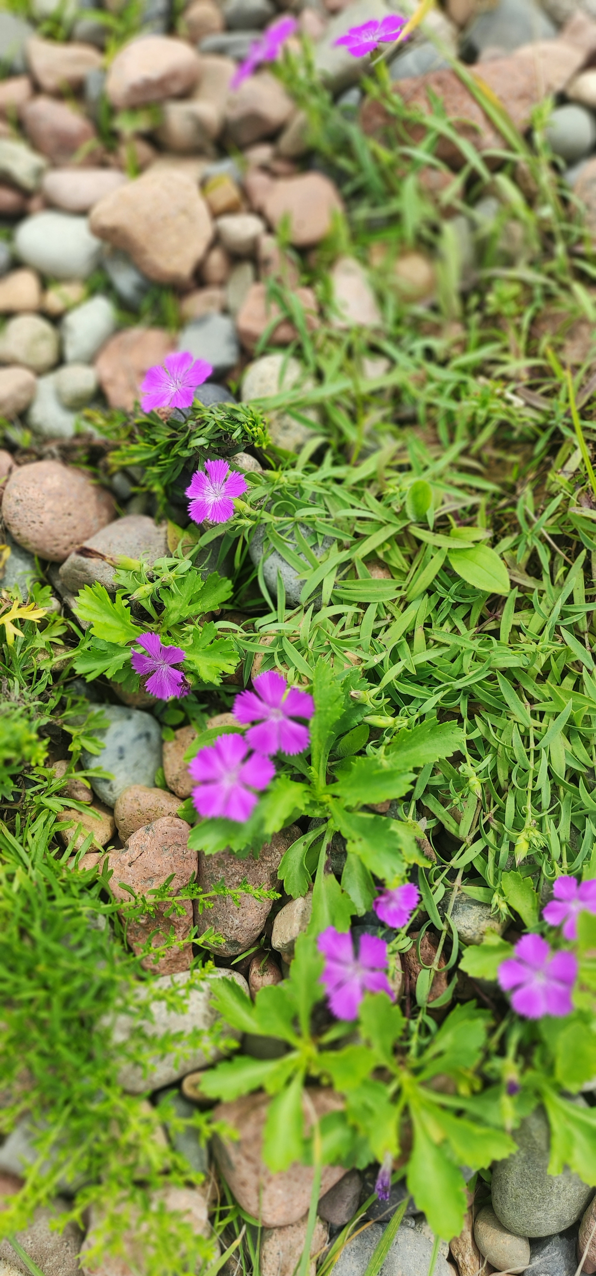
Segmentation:
<svg viewBox="0 0 596 1276">
<path fill-rule="evenodd" d="M 51 563 L 64 559 L 115 516 L 114 498 L 82 470 L 33 461 L 13 470 L 3 518 L 18 545 Z"/>
</svg>

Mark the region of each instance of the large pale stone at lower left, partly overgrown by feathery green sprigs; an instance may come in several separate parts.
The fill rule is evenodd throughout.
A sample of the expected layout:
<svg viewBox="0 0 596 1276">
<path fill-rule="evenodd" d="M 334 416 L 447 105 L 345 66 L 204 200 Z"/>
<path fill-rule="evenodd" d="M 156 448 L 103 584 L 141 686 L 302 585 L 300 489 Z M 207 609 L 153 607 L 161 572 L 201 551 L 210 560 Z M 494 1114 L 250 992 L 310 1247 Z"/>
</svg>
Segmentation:
<svg viewBox="0 0 596 1276">
<path fill-rule="evenodd" d="M 152 1018 L 143 1021 L 143 1028 L 148 1036 L 161 1037 L 166 1032 L 179 1032 L 188 1036 L 193 1028 L 204 1032 L 213 1027 L 221 1018 L 212 1005 L 213 985 L 218 979 L 232 979 L 246 994 L 246 998 L 249 997 L 246 980 L 235 970 L 226 970 L 221 966 L 217 970 L 209 971 L 205 976 L 200 972 L 197 976 L 189 971 L 180 971 L 177 975 L 161 975 L 160 979 L 153 979 L 151 984 L 139 984 L 138 990 L 135 989 L 135 995 L 140 1004 L 147 1002 L 152 1011 Z M 160 994 L 163 995 L 170 989 L 179 988 L 184 991 L 188 986 L 190 986 L 188 1002 L 180 1011 L 168 1009 L 167 1003 L 158 999 Z M 129 1014 L 119 1014 L 112 1028 L 114 1044 L 119 1045 L 128 1041 L 134 1032 L 138 1032 L 138 1018 L 133 1018 Z M 226 1037 L 237 1040 L 240 1034 L 236 1028 L 226 1027 Z M 180 1040 L 184 1040 L 184 1037 Z M 172 1081 L 179 1081 L 186 1072 L 193 1072 L 195 1068 L 207 1068 L 209 1063 L 216 1063 L 222 1057 L 221 1050 L 216 1046 L 209 1046 L 207 1042 L 203 1046 L 189 1046 L 186 1049 L 177 1045 L 171 1054 L 156 1057 L 148 1069 L 147 1077 L 138 1064 L 125 1063 L 119 1071 L 119 1083 L 129 1094 L 140 1095 L 147 1090 L 158 1090 L 161 1086 L 168 1086 Z"/>
</svg>

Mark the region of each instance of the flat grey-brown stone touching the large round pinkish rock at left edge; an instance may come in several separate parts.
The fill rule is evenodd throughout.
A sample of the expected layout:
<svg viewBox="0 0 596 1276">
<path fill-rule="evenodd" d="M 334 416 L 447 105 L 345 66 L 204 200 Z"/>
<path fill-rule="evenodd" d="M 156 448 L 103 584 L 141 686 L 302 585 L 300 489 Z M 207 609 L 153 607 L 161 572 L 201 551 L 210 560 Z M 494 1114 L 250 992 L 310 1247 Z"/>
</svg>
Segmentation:
<svg viewBox="0 0 596 1276">
<path fill-rule="evenodd" d="M 167 554 L 166 524 L 156 526 L 145 514 L 126 514 L 82 541 L 80 549 L 94 551 L 93 556 L 74 550 L 60 568 L 63 587 L 70 593 L 78 593 L 86 584 L 98 582 L 110 593 L 115 593 L 116 568 L 110 559 L 125 555 L 142 559 L 148 568 L 152 568 L 156 559 Z"/>
</svg>

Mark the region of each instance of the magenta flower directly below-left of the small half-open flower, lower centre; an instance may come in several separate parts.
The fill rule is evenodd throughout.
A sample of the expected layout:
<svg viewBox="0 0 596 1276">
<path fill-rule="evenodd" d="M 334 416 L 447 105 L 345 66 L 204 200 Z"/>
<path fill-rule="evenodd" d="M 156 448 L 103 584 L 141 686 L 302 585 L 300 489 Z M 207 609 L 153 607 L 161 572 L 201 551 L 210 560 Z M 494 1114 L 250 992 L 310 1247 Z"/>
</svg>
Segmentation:
<svg viewBox="0 0 596 1276">
<path fill-rule="evenodd" d="M 334 926 L 327 926 L 320 933 L 317 947 L 327 957 L 320 979 L 338 1020 L 356 1018 L 366 989 L 370 993 L 388 993 L 393 998 L 385 975 L 387 944 L 376 935 L 361 937 L 356 957 L 351 934 L 343 935 Z"/>
</svg>

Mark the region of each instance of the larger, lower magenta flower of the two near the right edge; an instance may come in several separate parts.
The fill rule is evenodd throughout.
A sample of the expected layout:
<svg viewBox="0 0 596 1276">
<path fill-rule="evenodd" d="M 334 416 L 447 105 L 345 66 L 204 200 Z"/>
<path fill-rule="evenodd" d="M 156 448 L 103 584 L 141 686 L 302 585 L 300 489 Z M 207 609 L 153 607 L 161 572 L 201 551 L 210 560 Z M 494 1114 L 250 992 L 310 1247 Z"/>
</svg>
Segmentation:
<svg viewBox="0 0 596 1276">
<path fill-rule="evenodd" d="M 570 1014 L 577 976 L 573 953 L 553 952 L 541 935 L 523 935 L 513 951 L 516 956 L 502 961 L 498 970 L 503 990 L 513 990 L 513 1009 L 527 1020 Z"/>
</svg>

